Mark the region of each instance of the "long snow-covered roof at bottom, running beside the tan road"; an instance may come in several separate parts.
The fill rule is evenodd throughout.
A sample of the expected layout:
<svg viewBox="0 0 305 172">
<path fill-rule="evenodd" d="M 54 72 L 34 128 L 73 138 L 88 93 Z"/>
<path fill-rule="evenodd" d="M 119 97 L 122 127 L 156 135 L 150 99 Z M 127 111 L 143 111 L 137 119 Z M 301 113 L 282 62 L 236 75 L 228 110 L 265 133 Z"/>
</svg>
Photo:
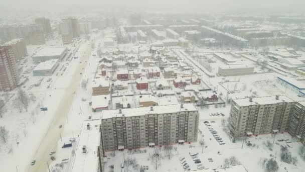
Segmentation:
<svg viewBox="0 0 305 172">
<path fill-rule="evenodd" d="M 90 129 L 87 129 L 87 124 Z M 79 142 L 75 150 L 75 159 L 73 162 L 73 172 L 97 171 L 98 168 L 98 146 L 100 143 L 100 120 L 84 121 L 79 135 Z M 86 153 L 83 153 L 83 146 L 86 146 Z"/>
</svg>

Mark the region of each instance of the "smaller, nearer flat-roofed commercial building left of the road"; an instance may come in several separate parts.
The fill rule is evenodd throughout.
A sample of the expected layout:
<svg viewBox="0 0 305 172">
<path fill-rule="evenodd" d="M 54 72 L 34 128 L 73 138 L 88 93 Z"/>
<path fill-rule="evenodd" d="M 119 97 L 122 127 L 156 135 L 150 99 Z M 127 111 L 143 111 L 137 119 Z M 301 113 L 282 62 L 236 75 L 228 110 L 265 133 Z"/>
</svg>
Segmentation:
<svg viewBox="0 0 305 172">
<path fill-rule="evenodd" d="M 59 59 L 46 60 L 33 69 L 33 76 L 51 76 L 59 65 Z"/>
</svg>

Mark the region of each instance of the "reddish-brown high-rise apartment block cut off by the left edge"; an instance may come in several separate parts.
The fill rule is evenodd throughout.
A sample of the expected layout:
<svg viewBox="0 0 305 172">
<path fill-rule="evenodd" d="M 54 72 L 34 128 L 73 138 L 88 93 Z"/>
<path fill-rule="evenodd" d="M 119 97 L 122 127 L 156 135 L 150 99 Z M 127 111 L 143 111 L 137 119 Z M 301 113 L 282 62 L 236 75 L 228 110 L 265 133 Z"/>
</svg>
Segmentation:
<svg viewBox="0 0 305 172">
<path fill-rule="evenodd" d="M 10 91 L 16 87 L 16 61 L 12 46 L 0 46 L 0 91 Z"/>
</svg>

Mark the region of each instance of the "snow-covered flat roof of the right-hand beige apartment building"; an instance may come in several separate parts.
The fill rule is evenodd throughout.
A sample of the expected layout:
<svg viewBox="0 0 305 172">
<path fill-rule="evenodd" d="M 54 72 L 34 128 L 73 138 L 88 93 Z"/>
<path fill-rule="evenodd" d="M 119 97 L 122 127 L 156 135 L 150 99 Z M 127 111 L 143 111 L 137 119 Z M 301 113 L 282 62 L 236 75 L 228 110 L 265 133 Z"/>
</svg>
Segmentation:
<svg viewBox="0 0 305 172">
<path fill-rule="evenodd" d="M 269 105 L 269 104 L 277 104 L 277 103 L 291 103 L 294 102 L 293 100 L 289 99 L 286 96 L 279 96 L 278 100 L 275 99 L 275 96 L 268 96 L 268 97 L 258 97 L 252 98 L 252 102 L 250 102 L 249 98 L 245 99 L 235 99 L 233 100 L 238 106 L 250 106 L 250 105 Z"/>
</svg>

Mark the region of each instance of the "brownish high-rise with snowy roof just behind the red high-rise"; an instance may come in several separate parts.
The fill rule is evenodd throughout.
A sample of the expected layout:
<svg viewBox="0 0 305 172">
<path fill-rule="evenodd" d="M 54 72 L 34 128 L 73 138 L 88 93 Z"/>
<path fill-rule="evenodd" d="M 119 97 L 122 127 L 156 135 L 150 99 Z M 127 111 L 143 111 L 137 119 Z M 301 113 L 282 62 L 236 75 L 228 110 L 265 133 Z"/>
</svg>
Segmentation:
<svg viewBox="0 0 305 172">
<path fill-rule="evenodd" d="M 22 57 L 27 56 L 28 54 L 26 42 L 24 39 L 13 39 L 7 42 L 5 45 L 12 46 L 16 61 L 20 60 Z"/>
</svg>

